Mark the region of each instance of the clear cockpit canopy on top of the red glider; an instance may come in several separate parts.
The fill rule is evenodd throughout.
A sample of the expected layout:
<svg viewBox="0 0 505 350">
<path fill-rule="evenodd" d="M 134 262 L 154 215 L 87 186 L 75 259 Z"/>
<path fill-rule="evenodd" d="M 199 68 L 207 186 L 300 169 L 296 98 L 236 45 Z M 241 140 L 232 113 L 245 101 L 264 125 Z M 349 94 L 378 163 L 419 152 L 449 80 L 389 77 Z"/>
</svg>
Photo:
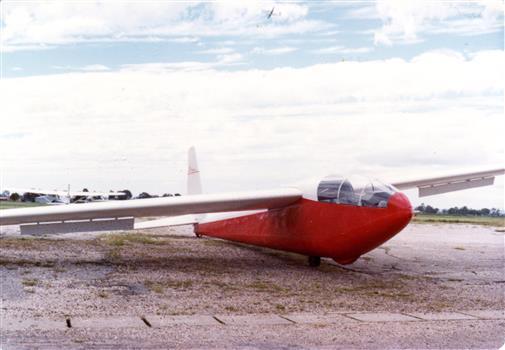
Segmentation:
<svg viewBox="0 0 505 350">
<path fill-rule="evenodd" d="M 386 208 L 395 188 L 378 180 L 328 176 L 317 188 L 320 202 L 348 204 L 360 207 Z"/>
</svg>

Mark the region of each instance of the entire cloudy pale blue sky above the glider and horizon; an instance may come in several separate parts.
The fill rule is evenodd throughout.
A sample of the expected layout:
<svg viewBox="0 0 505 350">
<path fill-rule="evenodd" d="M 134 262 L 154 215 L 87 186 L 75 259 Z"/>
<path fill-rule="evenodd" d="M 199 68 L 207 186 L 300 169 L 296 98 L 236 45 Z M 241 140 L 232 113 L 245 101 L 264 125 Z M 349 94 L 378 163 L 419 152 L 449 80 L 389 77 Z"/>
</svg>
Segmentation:
<svg viewBox="0 0 505 350">
<path fill-rule="evenodd" d="M 207 193 L 503 167 L 503 7 L 3 0 L 0 187 L 184 193 L 192 145 Z"/>
</svg>

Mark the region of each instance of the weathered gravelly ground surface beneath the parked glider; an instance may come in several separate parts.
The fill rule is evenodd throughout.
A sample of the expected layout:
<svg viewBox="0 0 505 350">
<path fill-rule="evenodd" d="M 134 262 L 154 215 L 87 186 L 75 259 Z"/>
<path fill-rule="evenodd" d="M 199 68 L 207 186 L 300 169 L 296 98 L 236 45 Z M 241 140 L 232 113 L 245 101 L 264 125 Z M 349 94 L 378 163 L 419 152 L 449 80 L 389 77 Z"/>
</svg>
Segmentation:
<svg viewBox="0 0 505 350">
<path fill-rule="evenodd" d="M 493 228 L 412 224 L 352 265 L 323 260 L 318 269 L 299 255 L 188 233 L 22 239 L 10 231 L 0 238 L 1 316 L 22 326 L 2 327 L 2 349 L 498 348 L 505 341 L 497 317 L 505 309 L 504 236 Z M 339 313 L 423 320 L 324 322 Z M 223 326 L 212 318 L 251 314 L 311 322 Z M 209 324 L 195 327 L 195 317 Z M 67 318 L 75 327 L 65 327 Z M 33 327 L 37 320 L 45 329 Z M 78 320 L 96 322 L 80 328 Z M 154 326 L 160 322 L 168 326 Z"/>
</svg>

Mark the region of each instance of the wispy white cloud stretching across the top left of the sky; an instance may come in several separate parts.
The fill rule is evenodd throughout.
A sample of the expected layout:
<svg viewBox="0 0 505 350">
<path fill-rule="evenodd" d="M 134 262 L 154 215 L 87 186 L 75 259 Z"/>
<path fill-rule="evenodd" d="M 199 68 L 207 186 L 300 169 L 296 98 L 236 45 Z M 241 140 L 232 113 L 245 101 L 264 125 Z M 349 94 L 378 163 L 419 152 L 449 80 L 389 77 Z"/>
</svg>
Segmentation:
<svg viewBox="0 0 505 350">
<path fill-rule="evenodd" d="M 267 10 L 278 15 L 267 20 Z M 3 52 L 76 42 L 197 42 L 208 36 L 275 37 L 318 31 L 303 4 L 240 2 L 37 2 L 2 5 Z M 135 14 L 132 16 L 131 14 Z"/>
</svg>

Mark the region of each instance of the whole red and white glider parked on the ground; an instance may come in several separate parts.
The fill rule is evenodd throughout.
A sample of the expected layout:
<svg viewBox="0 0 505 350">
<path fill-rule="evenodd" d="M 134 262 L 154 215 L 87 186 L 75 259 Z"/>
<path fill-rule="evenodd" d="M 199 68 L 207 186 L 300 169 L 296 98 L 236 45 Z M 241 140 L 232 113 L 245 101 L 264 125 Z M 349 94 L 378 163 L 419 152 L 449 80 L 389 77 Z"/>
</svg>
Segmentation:
<svg viewBox="0 0 505 350">
<path fill-rule="evenodd" d="M 82 231 L 87 225 L 96 230 L 106 219 L 126 220 L 131 226 L 123 229 L 193 224 L 198 236 L 304 254 L 311 265 L 321 257 L 349 264 L 410 222 L 412 205 L 400 190 L 418 188 L 420 196 L 430 196 L 492 185 L 505 173 L 494 169 L 391 184 L 331 175 L 301 186 L 202 194 L 194 148 L 188 158 L 187 196 L 3 210 L 0 225 Z M 134 226 L 134 218 L 146 216 L 167 218 Z"/>
</svg>

